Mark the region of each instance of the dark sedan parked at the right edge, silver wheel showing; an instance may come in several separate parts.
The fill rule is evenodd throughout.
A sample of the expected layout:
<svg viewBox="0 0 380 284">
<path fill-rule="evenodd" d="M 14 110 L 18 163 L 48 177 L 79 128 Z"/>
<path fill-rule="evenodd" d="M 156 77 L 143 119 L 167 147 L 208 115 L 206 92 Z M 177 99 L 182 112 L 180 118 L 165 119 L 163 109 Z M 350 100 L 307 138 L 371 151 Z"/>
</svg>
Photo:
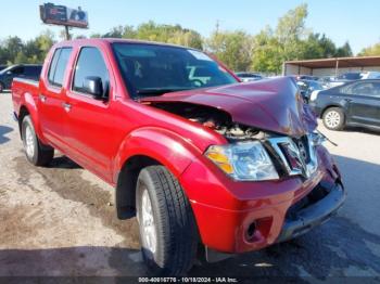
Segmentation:
<svg viewBox="0 0 380 284">
<path fill-rule="evenodd" d="M 380 80 L 357 80 L 316 92 L 309 104 L 328 129 L 380 129 Z"/>
</svg>

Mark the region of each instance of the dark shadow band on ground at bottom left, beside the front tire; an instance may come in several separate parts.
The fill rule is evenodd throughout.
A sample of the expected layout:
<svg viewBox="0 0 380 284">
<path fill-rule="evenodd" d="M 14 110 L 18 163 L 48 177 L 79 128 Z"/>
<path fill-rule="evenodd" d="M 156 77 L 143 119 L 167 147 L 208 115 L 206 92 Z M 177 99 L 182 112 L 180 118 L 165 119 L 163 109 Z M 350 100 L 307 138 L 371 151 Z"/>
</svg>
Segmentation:
<svg viewBox="0 0 380 284">
<path fill-rule="evenodd" d="M 147 275 L 139 250 L 104 246 L 0 250 L 0 277 L 118 276 L 121 272 L 123 276 Z"/>
</svg>

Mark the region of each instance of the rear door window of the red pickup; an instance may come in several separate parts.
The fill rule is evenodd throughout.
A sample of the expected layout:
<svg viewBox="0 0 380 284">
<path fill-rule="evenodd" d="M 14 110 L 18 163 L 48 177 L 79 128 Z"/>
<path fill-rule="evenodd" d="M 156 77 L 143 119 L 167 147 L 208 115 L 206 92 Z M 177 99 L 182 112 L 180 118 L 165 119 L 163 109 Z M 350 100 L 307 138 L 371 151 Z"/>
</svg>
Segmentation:
<svg viewBox="0 0 380 284">
<path fill-rule="evenodd" d="M 62 87 L 63 77 L 65 75 L 65 69 L 71 54 L 72 48 L 55 50 L 48 74 L 48 79 L 51 85 Z"/>
</svg>

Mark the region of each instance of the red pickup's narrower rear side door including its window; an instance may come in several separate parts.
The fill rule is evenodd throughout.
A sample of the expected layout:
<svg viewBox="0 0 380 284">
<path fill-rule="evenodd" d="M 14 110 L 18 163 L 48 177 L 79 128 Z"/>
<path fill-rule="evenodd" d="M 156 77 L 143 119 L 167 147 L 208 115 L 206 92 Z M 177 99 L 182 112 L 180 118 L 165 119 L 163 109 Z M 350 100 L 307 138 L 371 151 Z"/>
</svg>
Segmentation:
<svg viewBox="0 0 380 284">
<path fill-rule="evenodd" d="M 38 112 L 42 133 L 50 143 L 61 151 L 67 149 L 64 78 L 72 48 L 59 48 L 54 51 L 47 78 L 40 85 Z"/>
</svg>

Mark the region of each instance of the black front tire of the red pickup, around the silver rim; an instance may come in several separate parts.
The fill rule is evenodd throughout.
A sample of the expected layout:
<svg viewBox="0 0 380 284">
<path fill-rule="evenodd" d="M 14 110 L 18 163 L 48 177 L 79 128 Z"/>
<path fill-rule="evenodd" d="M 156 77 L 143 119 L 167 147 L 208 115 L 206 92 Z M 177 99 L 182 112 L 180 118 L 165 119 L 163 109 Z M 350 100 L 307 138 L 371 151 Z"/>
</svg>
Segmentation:
<svg viewBox="0 0 380 284">
<path fill-rule="evenodd" d="M 185 274 L 195 258 L 198 231 L 190 203 L 178 180 L 163 166 L 149 166 L 141 170 L 136 191 L 142 256 L 150 272 L 154 275 Z M 147 248 L 142 225 L 145 191 L 156 232 L 153 253 Z"/>
</svg>

